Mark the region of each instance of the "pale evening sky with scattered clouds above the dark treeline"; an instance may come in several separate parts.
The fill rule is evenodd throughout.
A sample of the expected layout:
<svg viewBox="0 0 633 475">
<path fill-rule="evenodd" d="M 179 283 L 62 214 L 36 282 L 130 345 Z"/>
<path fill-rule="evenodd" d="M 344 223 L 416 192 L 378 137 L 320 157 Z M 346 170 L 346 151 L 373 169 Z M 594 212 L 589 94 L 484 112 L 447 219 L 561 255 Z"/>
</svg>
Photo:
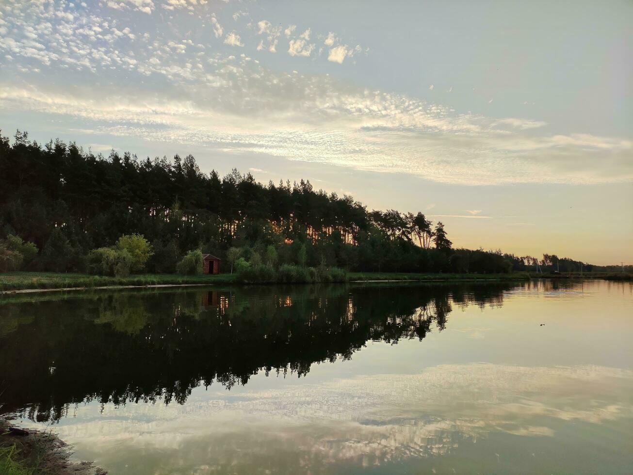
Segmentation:
<svg viewBox="0 0 633 475">
<path fill-rule="evenodd" d="M 633 264 L 630 1 L 0 0 L 0 129 Z"/>
</svg>

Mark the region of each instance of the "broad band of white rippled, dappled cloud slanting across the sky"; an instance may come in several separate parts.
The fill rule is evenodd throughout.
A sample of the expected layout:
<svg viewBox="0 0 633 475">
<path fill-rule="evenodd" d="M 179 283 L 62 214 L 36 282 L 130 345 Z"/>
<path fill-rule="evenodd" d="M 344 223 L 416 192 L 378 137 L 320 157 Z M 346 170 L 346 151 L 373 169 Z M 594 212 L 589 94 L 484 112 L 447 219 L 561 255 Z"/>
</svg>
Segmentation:
<svg viewBox="0 0 633 475">
<path fill-rule="evenodd" d="M 237 31 L 222 40 L 213 15 L 206 18 L 206 39 L 196 42 L 169 28 L 132 32 L 125 19 L 114 22 L 104 11 L 69 5 L 0 5 L 0 27 L 7 31 L 0 36 L 3 111 L 83 118 L 99 133 L 203 144 L 211 152 L 261 153 L 444 183 L 633 179 L 629 140 L 556 134 L 546 132 L 553 126 L 543 121 L 460 114 L 327 76 L 272 71 L 246 54 L 233 56 L 232 47 L 244 43 Z M 130 0 L 121 8 L 134 13 L 144 5 L 149 7 Z M 184 3 L 185 15 L 192 6 Z M 282 28 L 261 20 L 254 34 L 261 35 L 255 44 L 273 51 Z M 283 34 L 289 54 L 311 56 L 309 28 L 296 35 L 293 25 Z M 325 45 L 332 43 L 328 59 L 335 51 L 330 61 L 342 63 L 349 51 L 360 51 L 337 45 L 334 34 L 324 38 Z M 47 80 L 54 75 L 65 80 Z"/>
</svg>

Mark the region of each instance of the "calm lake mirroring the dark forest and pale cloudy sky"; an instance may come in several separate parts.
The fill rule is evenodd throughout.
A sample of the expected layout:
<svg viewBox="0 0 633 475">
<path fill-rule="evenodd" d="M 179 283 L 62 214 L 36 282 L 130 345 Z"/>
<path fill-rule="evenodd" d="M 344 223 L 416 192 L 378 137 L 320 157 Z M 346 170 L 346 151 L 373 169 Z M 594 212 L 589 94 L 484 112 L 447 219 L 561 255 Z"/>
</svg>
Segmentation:
<svg viewBox="0 0 633 475">
<path fill-rule="evenodd" d="M 630 283 L 0 299 L 3 412 L 110 474 L 633 472 Z"/>
</svg>

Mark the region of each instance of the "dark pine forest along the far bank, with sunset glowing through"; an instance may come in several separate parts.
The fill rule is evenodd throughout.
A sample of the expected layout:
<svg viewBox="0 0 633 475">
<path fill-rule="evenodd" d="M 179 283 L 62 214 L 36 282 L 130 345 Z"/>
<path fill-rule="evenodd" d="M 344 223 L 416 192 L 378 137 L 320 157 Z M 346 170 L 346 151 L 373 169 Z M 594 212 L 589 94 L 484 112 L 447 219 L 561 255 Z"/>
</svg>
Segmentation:
<svg viewBox="0 0 633 475">
<path fill-rule="evenodd" d="M 220 177 L 215 170 L 202 173 L 191 155 L 172 161 L 115 151 L 95 156 L 60 140 L 37 144 L 19 130 L 13 144 L 0 133 L 0 220 L 0 270 L 110 266 L 115 272 L 123 266 L 173 273 L 179 263 L 198 268 L 199 259 L 193 263 L 187 254 L 196 249 L 221 257 L 223 266 L 274 259 L 277 267 L 348 271 L 505 273 L 536 270 L 538 261 L 453 249 L 444 225 L 422 213 L 368 211 L 309 181 L 263 185 L 235 169 Z M 149 243 L 142 269 L 127 255 L 130 245 L 119 243 L 130 235 Z M 35 248 L 15 257 L 16 238 Z M 582 264 L 556 262 L 561 271 Z"/>
</svg>

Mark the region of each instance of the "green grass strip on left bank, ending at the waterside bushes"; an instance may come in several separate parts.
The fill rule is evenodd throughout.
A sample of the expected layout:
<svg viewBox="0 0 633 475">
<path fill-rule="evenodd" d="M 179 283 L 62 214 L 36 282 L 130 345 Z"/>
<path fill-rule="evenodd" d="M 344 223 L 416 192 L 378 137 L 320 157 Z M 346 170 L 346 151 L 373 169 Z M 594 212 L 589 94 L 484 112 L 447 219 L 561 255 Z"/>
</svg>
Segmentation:
<svg viewBox="0 0 633 475">
<path fill-rule="evenodd" d="M 120 285 L 183 285 L 233 283 L 235 275 L 135 274 L 127 277 L 96 276 L 79 273 L 8 272 L 0 274 L 0 290 L 30 288 L 110 287 Z"/>
</svg>

